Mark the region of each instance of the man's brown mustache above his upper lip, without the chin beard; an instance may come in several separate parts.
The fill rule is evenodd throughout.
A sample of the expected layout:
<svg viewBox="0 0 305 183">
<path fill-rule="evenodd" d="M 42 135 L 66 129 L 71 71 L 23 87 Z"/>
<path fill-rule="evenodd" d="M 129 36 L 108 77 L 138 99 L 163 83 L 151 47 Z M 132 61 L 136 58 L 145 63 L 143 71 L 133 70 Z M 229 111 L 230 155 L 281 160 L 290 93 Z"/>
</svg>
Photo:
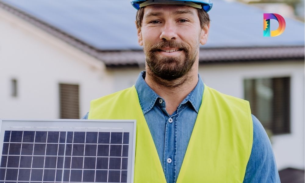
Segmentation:
<svg viewBox="0 0 305 183">
<path fill-rule="evenodd" d="M 166 48 L 166 47 L 178 48 L 178 49 L 181 49 L 181 50 L 185 50 L 185 52 L 188 52 L 188 50 L 189 50 L 188 46 L 185 43 L 178 42 L 178 41 L 175 41 L 175 40 L 158 42 L 154 45 L 151 45 L 148 48 L 148 50 L 150 52 L 156 52 L 156 51 L 161 50 L 162 48 Z"/>
</svg>

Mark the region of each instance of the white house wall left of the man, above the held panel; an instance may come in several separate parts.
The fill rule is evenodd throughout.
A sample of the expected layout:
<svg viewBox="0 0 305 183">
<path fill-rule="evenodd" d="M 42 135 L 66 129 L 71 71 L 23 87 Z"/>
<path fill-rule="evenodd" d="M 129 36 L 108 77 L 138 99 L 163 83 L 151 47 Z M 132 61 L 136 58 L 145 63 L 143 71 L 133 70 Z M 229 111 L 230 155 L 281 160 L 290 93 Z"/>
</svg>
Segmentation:
<svg viewBox="0 0 305 183">
<path fill-rule="evenodd" d="M 81 116 L 114 90 L 101 61 L 0 9 L 0 118 L 59 118 L 59 83 L 79 84 Z"/>
</svg>

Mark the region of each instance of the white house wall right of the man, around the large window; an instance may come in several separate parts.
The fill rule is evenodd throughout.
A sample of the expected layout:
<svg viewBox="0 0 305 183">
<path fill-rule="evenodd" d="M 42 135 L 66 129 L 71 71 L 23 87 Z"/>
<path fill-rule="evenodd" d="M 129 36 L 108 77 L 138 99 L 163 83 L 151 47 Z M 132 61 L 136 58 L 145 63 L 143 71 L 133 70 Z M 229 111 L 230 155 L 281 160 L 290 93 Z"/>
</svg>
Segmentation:
<svg viewBox="0 0 305 183">
<path fill-rule="evenodd" d="M 304 169 L 304 62 L 260 62 L 202 65 L 199 74 L 210 87 L 244 98 L 246 78 L 290 77 L 291 133 L 274 135 L 272 146 L 278 169 Z"/>
</svg>

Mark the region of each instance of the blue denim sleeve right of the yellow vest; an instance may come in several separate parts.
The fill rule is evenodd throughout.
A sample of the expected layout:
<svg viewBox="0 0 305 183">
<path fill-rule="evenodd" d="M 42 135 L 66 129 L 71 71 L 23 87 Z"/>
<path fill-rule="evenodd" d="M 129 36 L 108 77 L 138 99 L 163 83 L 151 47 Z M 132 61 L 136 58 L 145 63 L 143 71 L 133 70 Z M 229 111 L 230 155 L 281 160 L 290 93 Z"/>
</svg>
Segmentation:
<svg viewBox="0 0 305 183">
<path fill-rule="evenodd" d="M 253 145 L 243 182 L 278 183 L 280 178 L 268 135 L 254 115 L 252 115 L 252 120 Z"/>
</svg>

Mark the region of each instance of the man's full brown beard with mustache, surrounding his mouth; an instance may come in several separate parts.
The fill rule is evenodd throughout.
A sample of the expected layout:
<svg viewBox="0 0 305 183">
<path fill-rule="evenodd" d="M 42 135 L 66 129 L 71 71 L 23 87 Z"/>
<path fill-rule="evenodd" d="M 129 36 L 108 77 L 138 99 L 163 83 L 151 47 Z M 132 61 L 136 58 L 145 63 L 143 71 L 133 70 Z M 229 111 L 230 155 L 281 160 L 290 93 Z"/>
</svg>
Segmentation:
<svg viewBox="0 0 305 183">
<path fill-rule="evenodd" d="M 179 51 L 184 52 L 180 56 L 168 57 L 157 54 L 162 48 L 179 48 Z M 172 81 L 187 75 L 195 60 L 198 48 L 190 50 L 190 48 L 182 42 L 174 40 L 161 41 L 155 45 L 144 47 L 145 60 L 149 70 L 155 76 L 165 80 Z"/>
</svg>

